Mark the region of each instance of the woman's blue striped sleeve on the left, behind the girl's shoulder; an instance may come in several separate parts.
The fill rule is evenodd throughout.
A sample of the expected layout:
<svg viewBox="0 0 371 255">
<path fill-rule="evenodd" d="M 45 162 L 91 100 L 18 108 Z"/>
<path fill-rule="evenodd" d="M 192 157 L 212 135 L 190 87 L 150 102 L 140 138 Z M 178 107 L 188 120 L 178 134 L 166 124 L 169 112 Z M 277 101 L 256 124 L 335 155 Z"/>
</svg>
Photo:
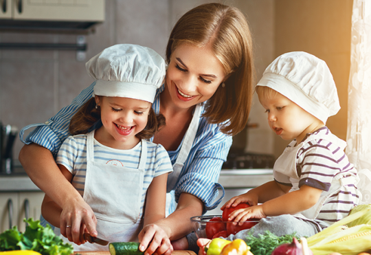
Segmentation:
<svg viewBox="0 0 371 255">
<path fill-rule="evenodd" d="M 54 117 L 45 123 L 30 124 L 25 126 L 19 132 L 19 139 L 25 144 L 35 143 L 47 148 L 57 155 L 60 146 L 70 135 L 68 128 L 69 122 L 76 111 L 89 100 L 93 93 L 93 82 L 89 87 L 84 89 L 67 107 L 61 109 Z M 27 137 L 24 137 L 27 129 L 35 128 Z"/>
</svg>

